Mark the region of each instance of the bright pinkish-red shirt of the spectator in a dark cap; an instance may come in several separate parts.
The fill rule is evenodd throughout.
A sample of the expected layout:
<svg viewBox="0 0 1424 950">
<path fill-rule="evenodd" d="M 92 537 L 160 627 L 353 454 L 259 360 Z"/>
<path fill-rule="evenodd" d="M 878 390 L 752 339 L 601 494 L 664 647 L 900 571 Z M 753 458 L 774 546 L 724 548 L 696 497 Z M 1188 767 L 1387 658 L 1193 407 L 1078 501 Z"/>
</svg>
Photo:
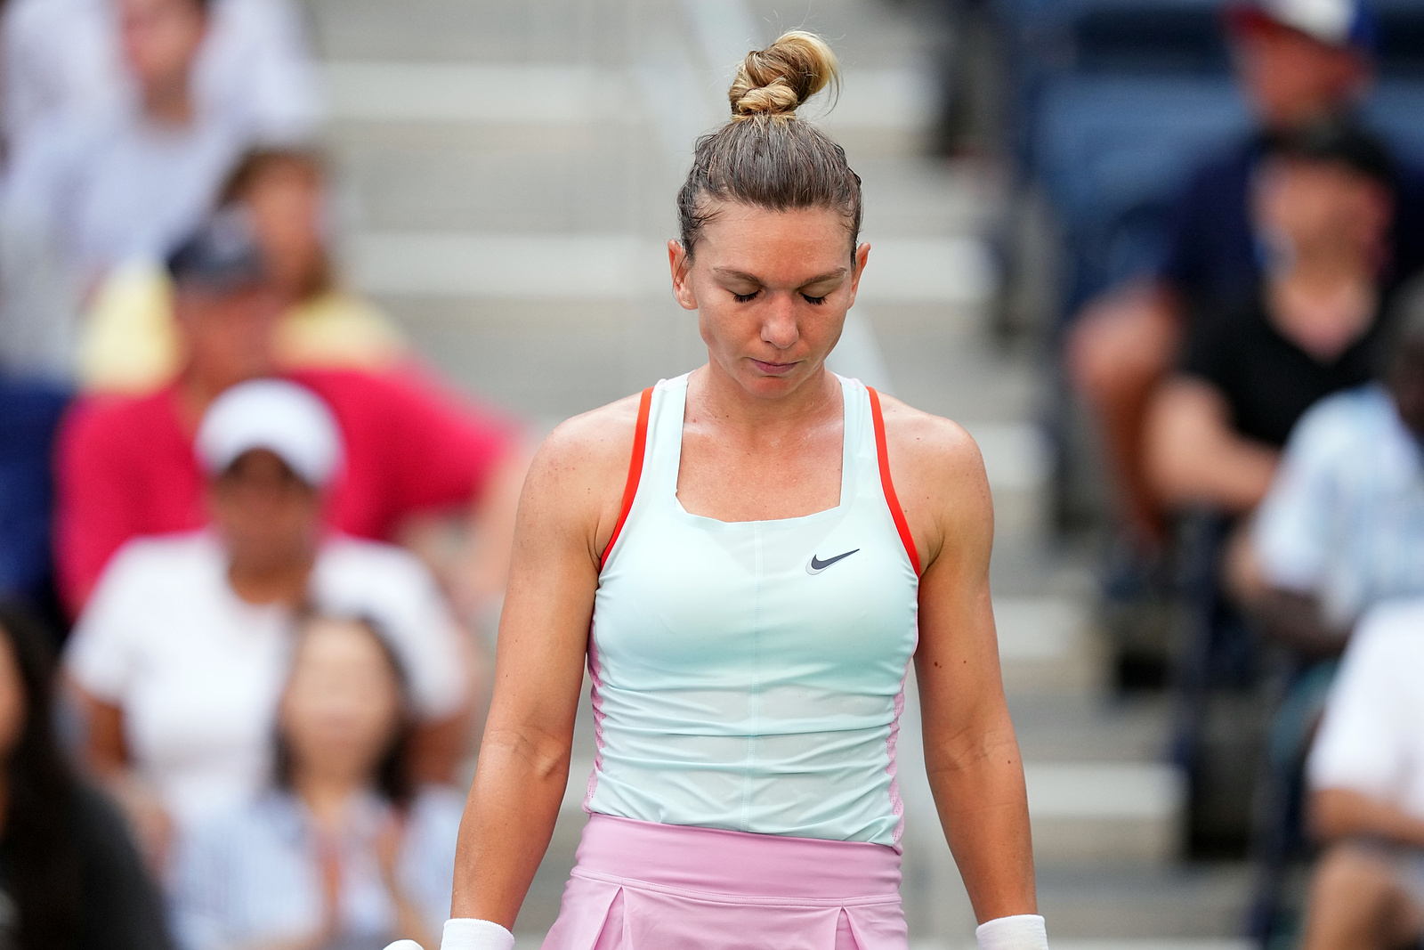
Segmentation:
<svg viewBox="0 0 1424 950">
<path fill-rule="evenodd" d="M 336 416 L 345 464 L 326 511 L 335 528 L 356 537 L 389 540 L 412 513 L 478 497 L 515 434 L 507 419 L 410 375 L 302 370 L 288 379 Z M 57 449 L 54 547 L 73 612 L 130 538 L 208 523 L 192 436 L 175 387 L 94 396 L 70 410 Z"/>
</svg>

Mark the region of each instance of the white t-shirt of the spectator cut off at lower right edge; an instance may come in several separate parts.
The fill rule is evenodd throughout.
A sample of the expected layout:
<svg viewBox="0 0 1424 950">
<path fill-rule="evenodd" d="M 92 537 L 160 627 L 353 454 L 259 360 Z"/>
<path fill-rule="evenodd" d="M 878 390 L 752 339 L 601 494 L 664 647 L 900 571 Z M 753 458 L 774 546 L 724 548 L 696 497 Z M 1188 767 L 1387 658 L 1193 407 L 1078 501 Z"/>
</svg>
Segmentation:
<svg viewBox="0 0 1424 950">
<path fill-rule="evenodd" d="M 1370 611 L 1350 638 L 1310 751 L 1316 789 L 1350 789 L 1424 818 L 1424 598 Z"/>
</svg>

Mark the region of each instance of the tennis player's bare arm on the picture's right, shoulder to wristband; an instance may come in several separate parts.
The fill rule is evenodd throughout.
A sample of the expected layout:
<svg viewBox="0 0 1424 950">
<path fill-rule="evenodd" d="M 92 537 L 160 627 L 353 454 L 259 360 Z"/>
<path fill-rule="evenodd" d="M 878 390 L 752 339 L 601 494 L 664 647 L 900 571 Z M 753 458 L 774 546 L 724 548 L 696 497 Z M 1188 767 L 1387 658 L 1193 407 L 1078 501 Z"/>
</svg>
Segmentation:
<svg viewBox="0 0 1424 950">
<path fill-rule="evenodd" d="M 984 461 L 956 423 L 886 403 L 891 479 L 921 564 L 916 678 L 940 822 L 981 923 L 1035 914 L 1024 765 L 990 600 Z"/>
</svg>

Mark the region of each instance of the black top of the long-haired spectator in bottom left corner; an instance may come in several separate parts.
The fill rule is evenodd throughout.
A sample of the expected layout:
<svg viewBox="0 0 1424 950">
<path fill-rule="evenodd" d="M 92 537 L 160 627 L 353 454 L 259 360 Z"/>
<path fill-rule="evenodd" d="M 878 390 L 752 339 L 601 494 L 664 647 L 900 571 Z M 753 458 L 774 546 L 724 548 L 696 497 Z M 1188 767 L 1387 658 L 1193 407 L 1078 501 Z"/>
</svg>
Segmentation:
<svg viewBox="0 0 1424 950">
<path fill-rule="evenodd" d="M 80 788 L 71 805 L 70 832 L 80 852 L 81 916 L 73 950 L 171 950 L 164 903 L 118 810 L 94 789 Z M 20 947 L 14 933 L 14 867 L 0 839 L 0 949 Z M 47 947 L 43 950 L 48 950 Z"/>
</svg>

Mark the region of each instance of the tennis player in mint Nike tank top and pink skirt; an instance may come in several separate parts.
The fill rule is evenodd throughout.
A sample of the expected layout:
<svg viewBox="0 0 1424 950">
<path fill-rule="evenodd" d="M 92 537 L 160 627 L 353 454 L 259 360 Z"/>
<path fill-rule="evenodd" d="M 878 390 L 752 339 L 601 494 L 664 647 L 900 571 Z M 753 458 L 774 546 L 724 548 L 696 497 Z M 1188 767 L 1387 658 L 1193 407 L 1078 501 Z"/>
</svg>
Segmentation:
<svg viewBox="0 0 1424 950">
<path fill-rule="evenodd" d="M 806 33 L 746 57 L 668 245 L 706 365 L 534 461 L 444 950 L 514 946 L 585 659 L 591 818 L 545 950 L 903 950 L 911 659 L 980 944 L 1047 947 L 978 450 L 824 367 L 870 252 L 860 178 L 796 117 L 836 78 Z"/>
</svg>

